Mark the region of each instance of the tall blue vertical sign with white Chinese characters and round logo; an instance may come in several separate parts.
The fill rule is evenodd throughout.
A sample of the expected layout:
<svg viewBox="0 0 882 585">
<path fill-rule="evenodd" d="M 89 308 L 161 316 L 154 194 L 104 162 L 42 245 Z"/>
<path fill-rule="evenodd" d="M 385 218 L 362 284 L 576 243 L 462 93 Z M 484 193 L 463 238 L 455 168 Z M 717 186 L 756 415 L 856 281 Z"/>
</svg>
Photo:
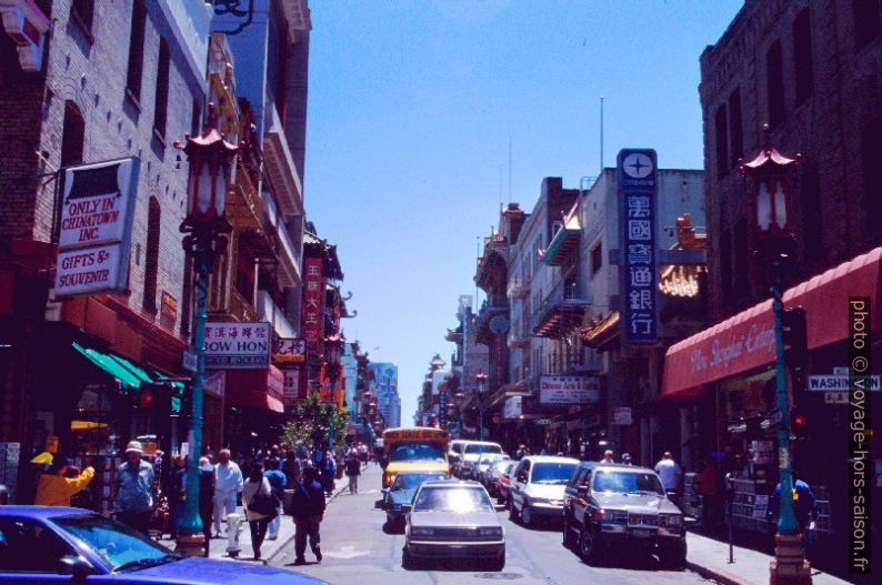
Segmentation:
<svg viewBox="0 0 882 585">
<path fill-rule="evenodd" d="M 619 151 L 617 167 L 622 242 L 622 339 L 625 343 L 658 343 L 658 158 L 652 149 L 623 149 Z"/>
</svg>

